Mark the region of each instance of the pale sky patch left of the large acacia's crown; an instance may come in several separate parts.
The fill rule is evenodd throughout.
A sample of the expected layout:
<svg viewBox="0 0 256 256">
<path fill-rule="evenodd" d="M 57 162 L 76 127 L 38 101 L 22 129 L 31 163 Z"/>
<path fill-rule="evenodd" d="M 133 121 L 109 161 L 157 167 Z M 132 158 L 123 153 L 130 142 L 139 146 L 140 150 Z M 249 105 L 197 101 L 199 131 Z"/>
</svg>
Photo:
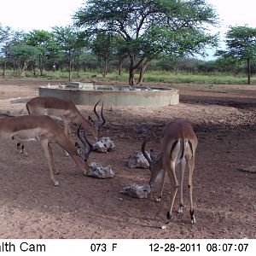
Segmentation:
<svg viewBox="0 0 256 256">
<path fill-rule="evenodd" d="M 0 23 L 25 32 L 73 23 L 84 0 L 0 0 Z"/>
</svg>

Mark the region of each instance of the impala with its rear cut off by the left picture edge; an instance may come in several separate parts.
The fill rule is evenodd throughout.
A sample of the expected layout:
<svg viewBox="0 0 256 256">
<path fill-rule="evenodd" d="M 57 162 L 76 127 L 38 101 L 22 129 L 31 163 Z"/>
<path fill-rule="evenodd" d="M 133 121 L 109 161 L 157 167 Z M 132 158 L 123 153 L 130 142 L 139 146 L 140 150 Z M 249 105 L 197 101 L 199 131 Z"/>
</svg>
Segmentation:
<svg viewBox="0 0 256 256">
<path fill-rule="evenodd" d="M 80 132 L 81 125 L 79 126 Z M 54 174 L 58 174 L 55 169 L 50 143 L 57 143 L 70 154 L 79 169 L 86 174 L 88 172 L 88 157 L 91 152 L 86 141 L 79 136 L 84 144 L 84 152 L 76 143 L 76 147 L 68 139 L 67 135 L 53 119 L 46 115 L 23 115 L 18 117 L 4 117 L 0 119 L 0 143 L 12 138 L 20 142 L 37 140 L 44 149 L 44 154 L 49 165 L 49 174 L 55 186 L 59 183 Z M 83 154 L 84 153 L 84 154 Z M 84 160 L 83 160 L 84 159 Z"/>
</svg>

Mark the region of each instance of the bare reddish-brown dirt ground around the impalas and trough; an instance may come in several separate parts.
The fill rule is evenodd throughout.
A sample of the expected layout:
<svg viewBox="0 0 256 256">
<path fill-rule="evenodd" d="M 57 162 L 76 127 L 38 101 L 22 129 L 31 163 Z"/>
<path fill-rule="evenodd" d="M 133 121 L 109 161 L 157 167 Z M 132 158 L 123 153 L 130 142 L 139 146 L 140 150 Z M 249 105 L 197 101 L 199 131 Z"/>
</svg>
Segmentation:
<svg viewBox="0 0 256 256">
<path fill-rule="evenodd" d="M 51 82 L 53 83 L 53 82 Z M 39 80 L 0 79 L 0 113 L 18 114 L 25 101 L 38 95 Z M 90 160 L 111 165 L 111 179 L 83 177 L 69 157 L 54 145 L 60 170 L 54 187 L 39 143 L 26 143 L 25 157 L 15 143 L 0 144 L 0 238 L 256 238 L 256 86 L 161 84 L 180 89 L 180 104 L 166 108 L 113 108 L 103 136 L 116 148 L 90 154 Z M 18 103 L 17 103 L 18 102 Z M 79 106 L 84 115 L 89 107 Z M 149 170 L 129 169 L 129 155 L 147 148 L 160 150 L 160 132 L 176 117 L 189 119 L 199 139 L 194 174 L 196 224 L 190 224 L 189 191 L 184 186 L 184 212 L 173 213 L 166 230 L 170 204 L 169 181 L 163 199 L 154 201 L 119 193 L 129 182 L 147 183 Z M 75 136 L 73 136 L 75 141 Z M 184 180 L 185 184 L 187 179 Z M 177 195 L 178 200 L 178 195 Z M 175 206 L 177 207 L 178 201 Z"/>
</svg>

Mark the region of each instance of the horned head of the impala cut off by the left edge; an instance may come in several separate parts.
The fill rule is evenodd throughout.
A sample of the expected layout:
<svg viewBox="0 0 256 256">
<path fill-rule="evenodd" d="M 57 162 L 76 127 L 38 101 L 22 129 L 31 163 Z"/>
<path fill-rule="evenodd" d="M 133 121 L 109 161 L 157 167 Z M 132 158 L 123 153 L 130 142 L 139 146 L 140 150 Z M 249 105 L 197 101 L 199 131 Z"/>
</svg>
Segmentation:
<svg viewBox="0 0 256 256">
<path fill-rule="evenodd" d="M 84 149 L 80 147 L 79 143 L 75 143 L 75 147 L 77 148 L 77 152 L 79 156 L 84 160 L 84 168 L 86 172 L 89 171 L 89 166 L 88 166 L 88 159 L 90 153 L 93 151 L 93 145 L 90 143 L 88 138 L 85 135 L 85 132 L 83 130 L 83 136 L 81 136 L 81 125 L 79 125 L 79 129 L 77 131 L 79 140 L 81 143 L 83 143 Z"/>
</svg>

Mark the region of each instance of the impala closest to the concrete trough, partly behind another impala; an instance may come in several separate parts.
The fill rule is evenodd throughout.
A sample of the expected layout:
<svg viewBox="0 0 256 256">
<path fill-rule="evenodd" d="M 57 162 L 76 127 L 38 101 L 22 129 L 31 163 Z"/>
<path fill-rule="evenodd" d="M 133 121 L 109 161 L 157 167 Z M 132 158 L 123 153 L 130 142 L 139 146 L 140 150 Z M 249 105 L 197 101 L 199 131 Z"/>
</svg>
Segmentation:
<svg viewBox="0 0 256 256">
<path fill-rule="evenodd" d="M 100 102 L 100 101 L 99 101 Z M 101 127 L 106 123 L 103 117 L 103 104 L 100 118 L 96 112 L 96 106 L 94 106 L 94 113 L 97 120 L 94 121 L 89 116 L 89 119 L 84 119 L 83 115 L 79 112 L 78 108 L 73 102 L 68 102 L 55 97 L 38 96 L 32 98 L 26 103 L 26 109 L 31 115 L 49 115 L 53 119 L 61 119 L 64 122 L 64 132 L 67 137 L 71 137 L 70 123 L 77 125 L 82 124 L 84 130 L 89 131 L 96 140 L 99 138 L 99 131 Z"/>
</svg>

